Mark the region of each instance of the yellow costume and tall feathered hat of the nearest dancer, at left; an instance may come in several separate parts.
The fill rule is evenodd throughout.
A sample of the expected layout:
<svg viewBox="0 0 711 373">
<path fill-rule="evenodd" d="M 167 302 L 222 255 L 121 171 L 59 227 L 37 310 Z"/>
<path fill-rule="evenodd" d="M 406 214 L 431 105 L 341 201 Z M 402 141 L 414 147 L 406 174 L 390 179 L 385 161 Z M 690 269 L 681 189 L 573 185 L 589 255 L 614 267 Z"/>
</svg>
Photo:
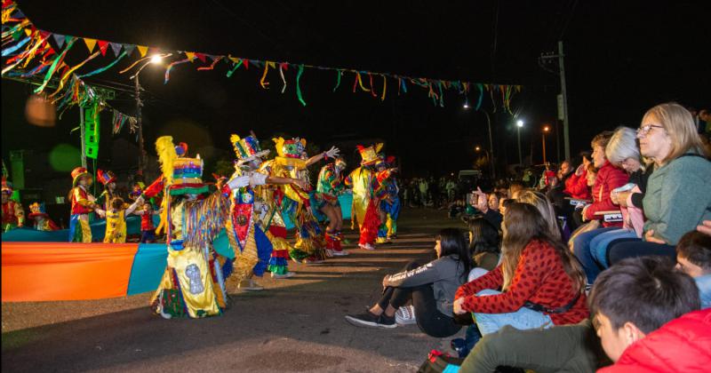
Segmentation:
<svg viewBox="0 0 711 373">
<path fill-rule="evenodd" d="M 220 314 L 228 306 L 224 279 L 231 272 L 232 263 L 212 250 L 212 240 L 228 218 L 227 196 L 221 191 L 206 197 L 197 195 L 208 190 L 201 179 L 203 161 L 199 155 L 179 158 L 186 155 L 187 146 L 175 147 L 172 138 L 164 136 L 156 140 L 156 150 L 163 180 L 156 180 L 147 196 L 156 193 L 156 186 L 163 185 L 165 194 L 185 199 L 171 209 L 171 198 L 164 198 L 167 221 L 159 228 L 167 229 L 168 263 L 151 298 L 151 308 L 164 318 Z"/>
</svg>

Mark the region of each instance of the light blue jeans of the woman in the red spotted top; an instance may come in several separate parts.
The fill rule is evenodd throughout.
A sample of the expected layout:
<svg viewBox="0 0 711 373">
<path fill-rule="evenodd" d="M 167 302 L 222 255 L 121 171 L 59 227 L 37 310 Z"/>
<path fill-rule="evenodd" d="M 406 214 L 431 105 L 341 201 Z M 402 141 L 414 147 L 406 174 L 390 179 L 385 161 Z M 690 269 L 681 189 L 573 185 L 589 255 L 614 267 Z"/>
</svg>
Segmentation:
<svg viewBox="0 0 711 373">
<path fill-rule="evenodd" d="M 476 293 L 477 297 L 490 296 L 501 294 L 497 290 L 482 290 Z M 550 320 L 550 316 L 544 313 L 539 313 L 528 309 L 526 307 L 521 307 L 518 311 L 512 313 L 472 313 L 474 320 L 476 321 L 476 326 L 479 327 L 479 331 L 482 335 L 495 333 L 499 329 L 506 325 L 511 325 L 515 329 L 536 329 L 536 328 L 550 328 L 553 326 L 553 321 Z"/>
</svg>

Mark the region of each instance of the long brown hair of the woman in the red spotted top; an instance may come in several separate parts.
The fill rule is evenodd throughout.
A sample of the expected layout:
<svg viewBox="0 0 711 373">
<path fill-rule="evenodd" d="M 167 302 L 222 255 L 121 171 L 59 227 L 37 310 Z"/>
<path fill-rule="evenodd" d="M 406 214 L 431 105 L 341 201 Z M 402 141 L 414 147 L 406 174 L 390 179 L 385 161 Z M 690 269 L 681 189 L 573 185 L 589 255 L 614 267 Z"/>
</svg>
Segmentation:
<svg viewBox="0 0 711 373">
<path fill-rule="evenodd" d="M 504 226 L 501 264 L 504 276 L 503 290 L 507 290 L 511 285 L 521 253 L 532 240 L 551 245 L 563 262 L 563 270 L 573 282 L 574 292 L 585 290 L 585 275 L 578 260 L 572 256 L 571 251 L 559 238 L 551 236 L 546 220 L 535 206 L 523 202 L 512 203 L 507 207 L 502 226 Z"/>
</svg>

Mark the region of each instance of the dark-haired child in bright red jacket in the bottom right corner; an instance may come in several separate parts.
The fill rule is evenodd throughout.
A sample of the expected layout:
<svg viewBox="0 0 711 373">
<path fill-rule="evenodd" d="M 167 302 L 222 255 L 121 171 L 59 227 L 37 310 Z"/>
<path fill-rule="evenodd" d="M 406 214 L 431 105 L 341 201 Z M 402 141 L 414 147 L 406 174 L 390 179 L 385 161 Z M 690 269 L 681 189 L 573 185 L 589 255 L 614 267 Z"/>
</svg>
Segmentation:
<svg viewBox="0 0 711 373">
<path fill-rule="evenodd" d="M 613 372 L 691 372 L 711 366 L 711 310 L 699 309 L 691 276 L 664 258 L 633 258 L 600 274 L 593 323 Z"/>
</svg>

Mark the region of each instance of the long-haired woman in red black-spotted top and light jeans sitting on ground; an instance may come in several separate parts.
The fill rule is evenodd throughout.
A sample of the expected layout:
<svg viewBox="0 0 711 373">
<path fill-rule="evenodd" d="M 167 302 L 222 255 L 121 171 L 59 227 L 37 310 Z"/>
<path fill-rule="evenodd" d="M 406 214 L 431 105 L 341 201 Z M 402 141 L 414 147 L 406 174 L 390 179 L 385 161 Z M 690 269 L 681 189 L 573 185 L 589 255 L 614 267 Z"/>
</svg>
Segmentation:
<svg viewBox="0 0 711 373">
<path fill-rule="evenodd" d="M 505 325 L 548 328 L 587 318 L 582 269 L 563 242 L 551 237 L 539 210 L 515 202 L 503 227 L 501 265 L 459 287 L 454 313 L 473 313 L 484 336 Z"/>
</svg>

